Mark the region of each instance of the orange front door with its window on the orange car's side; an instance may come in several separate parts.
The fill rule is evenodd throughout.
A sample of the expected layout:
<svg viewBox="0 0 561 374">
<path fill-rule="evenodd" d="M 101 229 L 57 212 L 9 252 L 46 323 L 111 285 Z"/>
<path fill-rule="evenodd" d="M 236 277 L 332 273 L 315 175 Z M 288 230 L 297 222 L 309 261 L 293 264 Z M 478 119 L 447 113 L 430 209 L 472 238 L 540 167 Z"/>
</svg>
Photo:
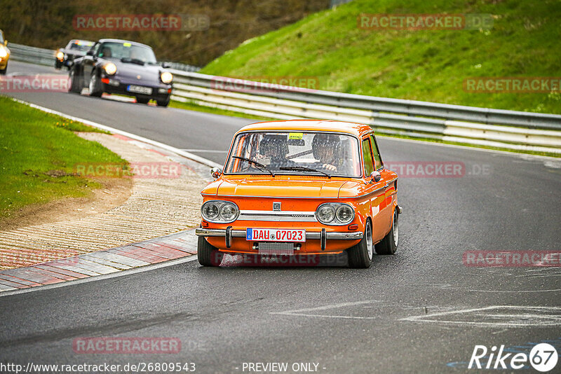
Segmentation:
<svg viewBox="0 0 561 374">
<path fill-rule="evenodd" d="M 374 157 L 372 155 L 372 145 L 370 136 L 362 140 L 365 193 L 370 200 L 370 216 L 372 216 L 372 240 L 379 242 L 386 235 L 387 219 L 383 216 L 383 208 L 386 202 L 386 187 L 384 181 L 375 181 L 373 173 L 375 171 Z"/>
</svg>

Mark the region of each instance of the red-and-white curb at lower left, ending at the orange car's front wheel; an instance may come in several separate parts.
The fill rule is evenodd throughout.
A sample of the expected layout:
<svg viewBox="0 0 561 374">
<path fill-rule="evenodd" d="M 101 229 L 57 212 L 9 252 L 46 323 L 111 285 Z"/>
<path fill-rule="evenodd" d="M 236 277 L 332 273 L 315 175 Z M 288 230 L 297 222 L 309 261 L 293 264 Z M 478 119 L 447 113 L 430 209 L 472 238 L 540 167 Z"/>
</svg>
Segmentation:
<svg viewBox="0 0 561 374">
<path fill-rule="evenodd" d="M 139 268 L 152 270 L 160 263 L 175 265 L 196 260 L 197 237 L 195 230 L 185 230 L 163 237 L 128 244 L 123 247 L 91 252 L 46 263 L 0 271 L 0 296 L 21 291 L 32 291 L 34 287 L 79 282 L 108 275 L 128 275 Z M 163 265 L 163 264 L 161 264 Z M 124 270 L 124 271 L 123 271 Z M 74 282 L 72 282 L 74 284 Z"/>
</svg>

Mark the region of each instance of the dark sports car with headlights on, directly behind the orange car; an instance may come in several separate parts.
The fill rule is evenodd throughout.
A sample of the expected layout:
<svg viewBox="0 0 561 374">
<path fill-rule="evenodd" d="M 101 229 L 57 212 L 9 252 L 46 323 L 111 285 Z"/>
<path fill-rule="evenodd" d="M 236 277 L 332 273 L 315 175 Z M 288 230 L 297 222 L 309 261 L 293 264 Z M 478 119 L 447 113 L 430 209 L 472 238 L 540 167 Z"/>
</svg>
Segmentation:
<svg viewBox="0 0 561 374">
<path fill-rule="evenodd" d="M 69 92 L 90 89 L 90 96 L 103 92 L 136 97 L 147 104 L 156 100 L 158 106 L 168 106 L 173 76 L 165 64 L 156 62 L 149 46 L 133 41 L 101 39 L 84 57 L 74 60 L 69 74 Z"/>
</svg>

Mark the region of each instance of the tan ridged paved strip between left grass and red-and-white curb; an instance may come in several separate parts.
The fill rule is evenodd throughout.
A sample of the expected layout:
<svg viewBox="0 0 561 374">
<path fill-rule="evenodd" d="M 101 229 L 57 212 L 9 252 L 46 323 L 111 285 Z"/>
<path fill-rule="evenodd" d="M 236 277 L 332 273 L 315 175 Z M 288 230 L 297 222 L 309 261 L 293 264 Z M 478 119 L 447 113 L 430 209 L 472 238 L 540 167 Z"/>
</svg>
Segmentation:
<svg viewBox="0 0 561 374">
<path fill-rule="evenodd" d="M 208 167 L 120 135 L 80 136 L 100 142 L 128 160 L 133 170 L 138 168 L 130 198 L 99 214 L 1 231 L 0 270 L 142 242 L 200 222 L 200 191 L 209 180 Z"/>
</svg>

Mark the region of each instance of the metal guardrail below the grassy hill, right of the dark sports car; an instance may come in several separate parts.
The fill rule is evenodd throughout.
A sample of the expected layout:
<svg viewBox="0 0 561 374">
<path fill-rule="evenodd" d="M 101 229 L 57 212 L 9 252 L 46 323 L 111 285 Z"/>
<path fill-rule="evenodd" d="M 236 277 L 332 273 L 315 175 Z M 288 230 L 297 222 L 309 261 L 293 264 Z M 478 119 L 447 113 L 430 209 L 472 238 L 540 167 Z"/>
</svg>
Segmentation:
<svg viewBox="0 0 561 374">
<path fill-rule="evenodd" d="M 309 90 L 174 71 L 173 99 L 279 119 L 367 123 L 377 132 L 561 153 L 561 116 Z"/>
</svg>

